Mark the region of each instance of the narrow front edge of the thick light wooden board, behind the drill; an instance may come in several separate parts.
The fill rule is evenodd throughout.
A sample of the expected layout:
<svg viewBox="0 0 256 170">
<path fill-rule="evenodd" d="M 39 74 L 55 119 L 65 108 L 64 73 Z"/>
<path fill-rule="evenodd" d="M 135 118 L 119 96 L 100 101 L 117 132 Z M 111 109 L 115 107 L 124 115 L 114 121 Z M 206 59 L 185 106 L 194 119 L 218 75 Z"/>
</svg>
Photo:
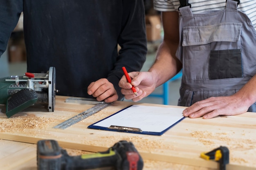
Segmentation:
<svg viewBox="0 0 256 170">
<path fill-rule="evenodd" d="M 39 140 L 44 140 L 43 138 L 38 137 L 27 137 L 22 135 L 10 135 L 10 134 L 4 134 L 0 133 L 0 139 L 10 140 L 10 141 L 19 141 L 19 142 L 25 142 L 30 144 L 37 144 Z M 58 141 L 58 139 L 54 139 Z M 108 150 L 109 147 L 102 147 L 102 146 L 91 146 L 86 144 L 78 144 L 74 142 L 67 142 L 67 141 L 58 141 L 59 146 L 62 148 L 70 148 L 70 149 L 76 149 L 76 150 L 84 150 L 88 152 L 101 152 Z M 139 154 L 143 159 L 147 160 L 153 160 L 153 161 L 163 161 L 163 162 L 171 162 L 171 163 L 179 163 L 184 165 L 190 165 L 190 166 L 200 166 L 200 167 L 206 167 L 206 168 L 218 168 L 218 162 L 216 161 L 207 161 L 204 159 L 195 159 L 195 158 L 185 158 L 185 157 L 177 157 L 177 156 L 171 156 L 171 155 L 160 155 L 157 153 L 149 153 L 144 151 L 139 151 Z M 199 156 L 198 156 L 199 157 Z M 248 166 L 240 166 L 235 164 L 228 164 L 226 166 L 227 170 L 256 170 L 256 167 L 248 167 Z"/>
</svg>

